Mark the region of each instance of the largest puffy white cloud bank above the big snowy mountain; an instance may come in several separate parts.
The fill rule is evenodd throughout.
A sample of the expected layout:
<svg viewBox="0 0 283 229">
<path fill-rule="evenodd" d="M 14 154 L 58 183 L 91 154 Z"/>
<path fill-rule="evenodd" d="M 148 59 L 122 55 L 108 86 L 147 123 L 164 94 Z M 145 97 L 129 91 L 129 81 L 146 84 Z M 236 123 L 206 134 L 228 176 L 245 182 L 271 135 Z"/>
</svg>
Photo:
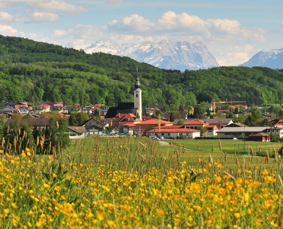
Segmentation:
<svg viewBox="0 0 283 229">
<path fill-rule="evenodd" d="M 159 35 L 164 36 L 170 33 L 171 36 L 201 36 L 216 41 L 244 40 L 252 42 L 264 42 L 263 29 L 242 27 L 237 20 L 229 19 L 207 19 L 203 20 L 198 16 L 187 13 L 176 14 L 173 11 L 163 15 L 151 22 L 138 14 L 112 20 L 106 28 L 109 31 L 120 33 L 134 33 L 135 35 Z M 141 34 L 140 32 L 146 32 Z"/>
</svg>

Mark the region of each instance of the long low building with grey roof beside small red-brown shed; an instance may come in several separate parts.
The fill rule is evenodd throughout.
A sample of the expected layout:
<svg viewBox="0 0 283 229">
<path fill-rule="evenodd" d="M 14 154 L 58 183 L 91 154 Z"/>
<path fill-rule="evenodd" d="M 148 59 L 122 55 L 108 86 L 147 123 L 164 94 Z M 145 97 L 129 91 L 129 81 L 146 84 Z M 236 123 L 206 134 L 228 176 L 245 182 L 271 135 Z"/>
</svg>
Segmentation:
<svg viewBox="0 0 283 229">
<path fill-rule="evenodd" d="M 222 129 L 216 131 L 217 137 L 248 137 L 251 134 L 266 132 L 266 127 L 223 127 Z"/>
</svg>

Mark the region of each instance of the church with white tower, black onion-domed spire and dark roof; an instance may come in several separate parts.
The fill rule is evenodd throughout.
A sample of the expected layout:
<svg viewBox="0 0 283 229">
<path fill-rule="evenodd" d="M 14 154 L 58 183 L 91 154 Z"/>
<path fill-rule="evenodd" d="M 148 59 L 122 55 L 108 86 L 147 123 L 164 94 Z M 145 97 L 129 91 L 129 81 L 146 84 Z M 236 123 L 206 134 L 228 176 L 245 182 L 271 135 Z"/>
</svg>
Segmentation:
<svg viewBox="0 0 283 229">
<path fill-rule="evenodd" d="M 109 107 L 105 118 L 114 118 L 116 116 L 120 117 L 120 114 L 133 114 L 136 116 L 135 121 L 142 121 L 141 118 L 141 83 L 138 78 L 138 68 L 137 68 L 137 78 L 134 84 L 134 102 L 118 103 L 117 107 Z"/>
</svg>

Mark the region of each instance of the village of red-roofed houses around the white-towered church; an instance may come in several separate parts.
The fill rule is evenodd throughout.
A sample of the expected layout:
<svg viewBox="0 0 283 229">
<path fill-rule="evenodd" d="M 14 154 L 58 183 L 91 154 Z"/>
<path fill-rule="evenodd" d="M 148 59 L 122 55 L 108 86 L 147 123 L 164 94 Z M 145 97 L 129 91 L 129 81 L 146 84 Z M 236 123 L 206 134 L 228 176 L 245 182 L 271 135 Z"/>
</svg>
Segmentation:
<svg viewBox="0 0 283 229">
<path fill-rule="evenodd" d="M 141 83 L 138 70 L 134 87 L 134 102 L 121 102 L 117 107 L 107 107 L 105 104 L 64 106 L 63 102 L 38 102 L 34 105 L 27 101 L 4 102 L 0 114 L 5 115 L 7 125 L 12 122 L 19 124 L 25 122 L 45 130 L 49 126 L 50 115 L 48 114 L 57 114 L 60 118 L 69 121 L 72 114 L 85 113 L 84 118 L 87 118 L 81 125 L 71 125 L 72 123 L 68 122 L 70 139 L 97 134 L 101 136 L 144 135 L 153 140 L 218 138 L 269 142 L 272 136 L 275 136 L 277 141 L 281 141 L 283 137 L 283 120 L 269 118 L 267 111 L 270 107 L 253 108 L 260 111 L 265 125 L 249 126 L 235 122 L 232 117 L 227 117 L 231 114 L 238 117 L 250 112 L 247 105 L 232 105 L 232 102 L 243 101 L 215 102 L 214 100 L 211 106 L 197 104 L 186 111 L 181 109 L 180 105 L 178 111 L 172 113 L 168 110 L 168 105 L 141 106 Z M 200 110 L 204 111 L 199 113 Z"/>
</svg>

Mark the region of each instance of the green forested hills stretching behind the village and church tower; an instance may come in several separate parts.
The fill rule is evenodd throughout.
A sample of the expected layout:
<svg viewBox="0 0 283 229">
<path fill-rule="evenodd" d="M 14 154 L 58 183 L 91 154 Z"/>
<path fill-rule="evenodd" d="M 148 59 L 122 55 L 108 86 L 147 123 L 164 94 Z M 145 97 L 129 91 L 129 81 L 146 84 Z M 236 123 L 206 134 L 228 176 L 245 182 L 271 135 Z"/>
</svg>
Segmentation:
<svg viewBox="0 0 283 229">
<path fill-rule="evenodd" d="M 0 35 L 0 100 L 74 103 L 133 101 L 136 66 L 143 105 L 243 100 L 283 103 L 283 70 L 215 67 L 180 72 L 105 53 L 86 54 L 59 45 Z"/>
</svg>

